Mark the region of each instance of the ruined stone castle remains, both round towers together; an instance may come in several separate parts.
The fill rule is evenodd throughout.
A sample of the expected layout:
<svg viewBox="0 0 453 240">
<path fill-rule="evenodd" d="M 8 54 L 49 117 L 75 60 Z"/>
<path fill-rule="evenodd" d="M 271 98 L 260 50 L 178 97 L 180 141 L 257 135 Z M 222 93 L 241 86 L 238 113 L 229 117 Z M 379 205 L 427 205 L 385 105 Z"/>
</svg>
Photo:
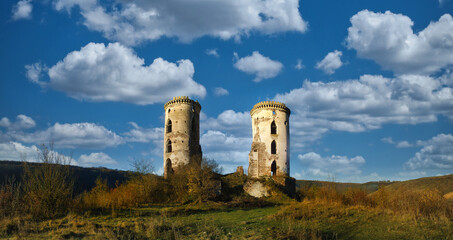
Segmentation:
<svg viewBox="0 0 453 240">
<path fill-rule="evenodd" d="M 164 177 L 188 164 L 200 164 L 200 111 L 198 101 L 174 97 L 164 105 Z M 263 180 L 271 178 L 290 196 L 295 179 L 289 176 L 289 116 L 285 104 L 264 101 L 250 111 L 253 142 L 249 153 L 249 179 L 244 191 L 255 197 L 269 196 L 272 189 Z M 200 165 L 201 167 L 201 165 Z M 243 173 L 239 168 L 238 173 Z"/>
</svg>

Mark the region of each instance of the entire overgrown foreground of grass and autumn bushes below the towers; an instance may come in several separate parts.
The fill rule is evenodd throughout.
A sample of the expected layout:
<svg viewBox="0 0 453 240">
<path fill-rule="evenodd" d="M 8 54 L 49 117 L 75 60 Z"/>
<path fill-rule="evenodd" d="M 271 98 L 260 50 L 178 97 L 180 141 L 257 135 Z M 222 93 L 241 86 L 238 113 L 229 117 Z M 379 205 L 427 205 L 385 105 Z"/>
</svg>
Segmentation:
<svg viewBox="0 0 453 240">
<path fill-rule="evenodd" d="M 136 171 L 111 187 L 98 178 L 78 193 L 71 168 L 52 153 L 44 147 L 42 164 L 24 163 L 20 180 L 0 186 L 1 239 L 453 240 L 450 175 L 373 193 L 303 185 L 294 198 L 265 178 L 271 197 L 257 199 L 243 190 L 246 175 L 221 175 L 206 159 L 167 179 Z"/>
</svg>

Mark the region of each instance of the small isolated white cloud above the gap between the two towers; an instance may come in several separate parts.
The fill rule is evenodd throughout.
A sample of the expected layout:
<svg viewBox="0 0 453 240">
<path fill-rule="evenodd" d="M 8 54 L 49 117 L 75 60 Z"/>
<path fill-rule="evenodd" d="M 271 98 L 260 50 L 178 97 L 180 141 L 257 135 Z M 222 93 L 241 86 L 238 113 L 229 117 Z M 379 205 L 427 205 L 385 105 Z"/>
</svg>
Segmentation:
<svg viewBox="0 0 453 240">
<path fill-rule="evenodd" d="M 238 57 L 236 53 L 235 57 Z M 282 70 L 283 64 L 254 51 L 250 56 L 237 59 L 234 67 L 247 74 L 256 75 L 253 81 L 260 82 L 263 79 L 277 76 Z"/>
</svg>

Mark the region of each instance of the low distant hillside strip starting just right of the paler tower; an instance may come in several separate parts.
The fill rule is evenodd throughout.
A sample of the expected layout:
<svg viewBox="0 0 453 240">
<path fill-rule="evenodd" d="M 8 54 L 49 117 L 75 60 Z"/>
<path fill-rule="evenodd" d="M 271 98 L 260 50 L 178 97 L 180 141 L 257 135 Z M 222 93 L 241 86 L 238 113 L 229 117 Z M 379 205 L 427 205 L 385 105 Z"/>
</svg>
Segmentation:
<svg viewBox="0 0 453 240">
<path fill-rule="evenodd" d="M 315 180 L 296 180 L 297 189 L 303 188 L 308 189 L 312 186 L 323 187 L 332 185 L 339 192 L 344 192 L 348 188 L 362 189 L 368 193 L 375 192 L 379 189 L 379 186 L 387 186 L 395 182 L 381 181 L 381 182 L 367 182 L 367 183 L 341 183 L 341 182 L 327 182 L 327 181 L 315 181 Z"/>
</svg>

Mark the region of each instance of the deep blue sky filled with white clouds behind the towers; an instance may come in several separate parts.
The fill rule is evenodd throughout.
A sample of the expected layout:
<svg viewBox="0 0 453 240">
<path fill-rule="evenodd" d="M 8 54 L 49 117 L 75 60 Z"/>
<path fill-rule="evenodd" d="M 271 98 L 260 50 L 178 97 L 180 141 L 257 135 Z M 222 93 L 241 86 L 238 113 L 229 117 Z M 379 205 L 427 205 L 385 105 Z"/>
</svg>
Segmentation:
<svg viewBox="0 0 453 240">
<path fill-rule="evenodd" d="M 292 110 L 291 176 L 453 172 L 453 1 L 5 0 L 0 159 L 162 173 L 163 104 L 202 105 L 201 145 L 248 166 L 249 111 Z"/>
</svg>

